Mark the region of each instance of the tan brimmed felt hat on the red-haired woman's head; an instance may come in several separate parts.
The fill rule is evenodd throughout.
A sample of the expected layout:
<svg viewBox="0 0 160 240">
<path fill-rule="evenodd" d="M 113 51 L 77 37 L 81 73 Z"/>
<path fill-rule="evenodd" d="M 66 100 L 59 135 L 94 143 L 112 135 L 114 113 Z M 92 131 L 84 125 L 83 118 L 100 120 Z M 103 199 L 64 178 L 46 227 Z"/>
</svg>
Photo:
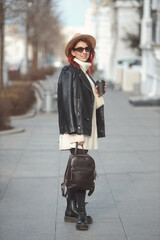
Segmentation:
<svg viewBox="0 0 160 240">
<path fill-rule="evenodd" d="M 65 55 L 67 57 L 68 57 L 69 49 L 73 46 L 74 42 L 77 41 L 78 39 L 87 39 L 90 41 L 93 48 L 95 48 L 96 46 L 96 39 L 93 36 L 88 34 L 76 33 L 66 45 Z"/>
</svg>

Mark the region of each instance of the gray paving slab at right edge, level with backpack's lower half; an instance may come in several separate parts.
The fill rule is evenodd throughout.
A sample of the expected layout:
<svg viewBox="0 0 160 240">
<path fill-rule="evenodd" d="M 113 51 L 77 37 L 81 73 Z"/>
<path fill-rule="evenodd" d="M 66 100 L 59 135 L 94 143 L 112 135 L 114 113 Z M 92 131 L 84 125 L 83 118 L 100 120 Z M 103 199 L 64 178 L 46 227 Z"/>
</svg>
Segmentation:
<svg viewBox="0 0 160 240">
<path fill-rule="evenodd" d="M 159 173 L 108 174 L 108 181 L 116 201 L 160 200 Z M 150 202 L 150 203 L 151 203 Z"/>
</svg>

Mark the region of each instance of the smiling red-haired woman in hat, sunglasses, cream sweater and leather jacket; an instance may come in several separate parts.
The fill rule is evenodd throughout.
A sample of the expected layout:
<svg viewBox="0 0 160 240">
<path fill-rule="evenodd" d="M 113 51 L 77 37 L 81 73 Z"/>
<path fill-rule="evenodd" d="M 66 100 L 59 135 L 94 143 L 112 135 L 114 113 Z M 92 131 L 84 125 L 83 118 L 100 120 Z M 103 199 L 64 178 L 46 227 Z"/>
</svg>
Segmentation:
<svg viewBox="0 0 160 240">
<path fill-rule="evenodd" d="M 93 72 L 96 40 L 87 34 L 76 34 L 68 42 L 65 54 L 69 65 L 65 66 L 58 80 L 59 148 L 78 153 L 97 149 L 98 137 L 105 136 L 104 100 L 98 95 Z M 65 221 L 77 221 L 78 230 L 87 230 L 91 217 L 86 217 L 86 191 L 69 191 Z"/>
</svg>

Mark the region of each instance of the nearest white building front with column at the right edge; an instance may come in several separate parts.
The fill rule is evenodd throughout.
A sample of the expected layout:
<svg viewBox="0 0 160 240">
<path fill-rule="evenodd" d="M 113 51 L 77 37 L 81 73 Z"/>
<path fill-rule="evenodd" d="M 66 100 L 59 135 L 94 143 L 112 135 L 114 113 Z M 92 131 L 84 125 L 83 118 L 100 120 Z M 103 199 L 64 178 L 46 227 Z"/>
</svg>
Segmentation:
<svg viewBox="0 0 160 240">
<path fill-rule="evenodd" d="M 141 93 L 160 96 L 160 1 L 145 0 L 141 21 Z"/>
</svg>

